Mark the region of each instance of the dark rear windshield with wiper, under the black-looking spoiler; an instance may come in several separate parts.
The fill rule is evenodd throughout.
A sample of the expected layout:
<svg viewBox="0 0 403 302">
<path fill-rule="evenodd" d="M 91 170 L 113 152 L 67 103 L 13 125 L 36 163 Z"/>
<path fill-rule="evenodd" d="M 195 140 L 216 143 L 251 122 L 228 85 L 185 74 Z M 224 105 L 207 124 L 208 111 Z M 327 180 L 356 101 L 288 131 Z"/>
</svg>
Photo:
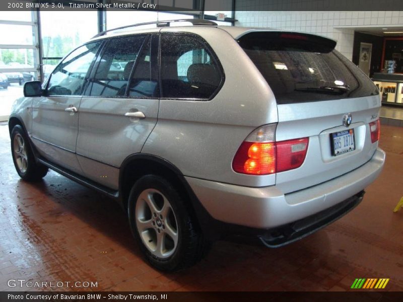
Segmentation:
<svg viewBox="0 0 403 302">
<path fill-rule="evenodd" d="M 300 33 L 253 32 L 238 43 L 273 90 L 278 104 L 378 94 L 358 67 L 333 50 L 332 40 Z"/>
</svg>

